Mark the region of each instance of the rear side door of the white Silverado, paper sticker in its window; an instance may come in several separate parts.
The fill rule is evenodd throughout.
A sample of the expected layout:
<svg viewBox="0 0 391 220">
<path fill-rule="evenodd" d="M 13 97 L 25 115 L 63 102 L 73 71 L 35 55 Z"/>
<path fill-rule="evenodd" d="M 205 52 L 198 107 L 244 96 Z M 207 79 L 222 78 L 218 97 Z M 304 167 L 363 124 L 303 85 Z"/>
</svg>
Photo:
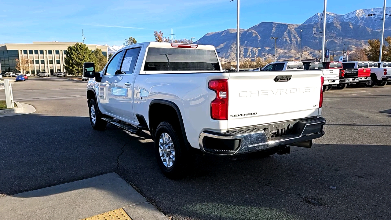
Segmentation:
<svg viewBox="0 0 391 220">
<path fill-rule="evenodd" d="M 135 47 L 124 52 L 125 55 L 116 74 L 116 82 L 113 83 L 113 98 L 110 100 L 114 115 L 129 121 L 135 121 L 133 113 L 133 79 L 140 50 L 141 47 Z"/>
</svg>

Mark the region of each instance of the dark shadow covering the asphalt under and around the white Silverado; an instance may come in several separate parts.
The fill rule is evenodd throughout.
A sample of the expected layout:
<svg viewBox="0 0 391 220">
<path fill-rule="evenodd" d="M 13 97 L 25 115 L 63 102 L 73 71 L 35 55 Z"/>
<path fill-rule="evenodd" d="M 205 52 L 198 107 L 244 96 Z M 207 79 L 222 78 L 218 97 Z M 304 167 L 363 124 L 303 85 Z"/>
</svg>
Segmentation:
<svg viewBox="0 0 391 220">
<path fill-rule="evenodd" d="M 113 126 L 99 132 L 88 117 L 38 114 L 4 117 L 1 126 L 0 195 L 117 172 L 173 219 L 391 216 L 391 146 L 314 144 L 266 158 L 195 155 L 186 175 L 170 180 L 147 133 Z"/>
</svg>

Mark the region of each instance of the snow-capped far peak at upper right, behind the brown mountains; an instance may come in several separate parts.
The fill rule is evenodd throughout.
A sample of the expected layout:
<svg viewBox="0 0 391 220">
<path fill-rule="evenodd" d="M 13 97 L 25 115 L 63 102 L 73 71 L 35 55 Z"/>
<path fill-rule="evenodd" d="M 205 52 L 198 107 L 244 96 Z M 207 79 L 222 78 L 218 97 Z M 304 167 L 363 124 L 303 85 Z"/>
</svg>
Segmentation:
<svg viewBox="0 0 391 220">
<path fill-rule="evenodd" d="M 386 14 L 390 14 L 391 7 L 386 7 Z M 377 14 L 368 16 L 368 14 Z M 383 17 L 383 8 L 359 9 L 348 14 L 334 14 L 327 12 L 326 22 L 350 22 L 357 25 L 369 27 L 373 30 L 381 29 L 382 23 L 379 19 Z M 322 13 L 316 13 L 308 18 L 303 24 L 319 23 L 322 20 Z M 391 24 L 389 16 L 386 16 L 386 24 Z"/>
</svg>

